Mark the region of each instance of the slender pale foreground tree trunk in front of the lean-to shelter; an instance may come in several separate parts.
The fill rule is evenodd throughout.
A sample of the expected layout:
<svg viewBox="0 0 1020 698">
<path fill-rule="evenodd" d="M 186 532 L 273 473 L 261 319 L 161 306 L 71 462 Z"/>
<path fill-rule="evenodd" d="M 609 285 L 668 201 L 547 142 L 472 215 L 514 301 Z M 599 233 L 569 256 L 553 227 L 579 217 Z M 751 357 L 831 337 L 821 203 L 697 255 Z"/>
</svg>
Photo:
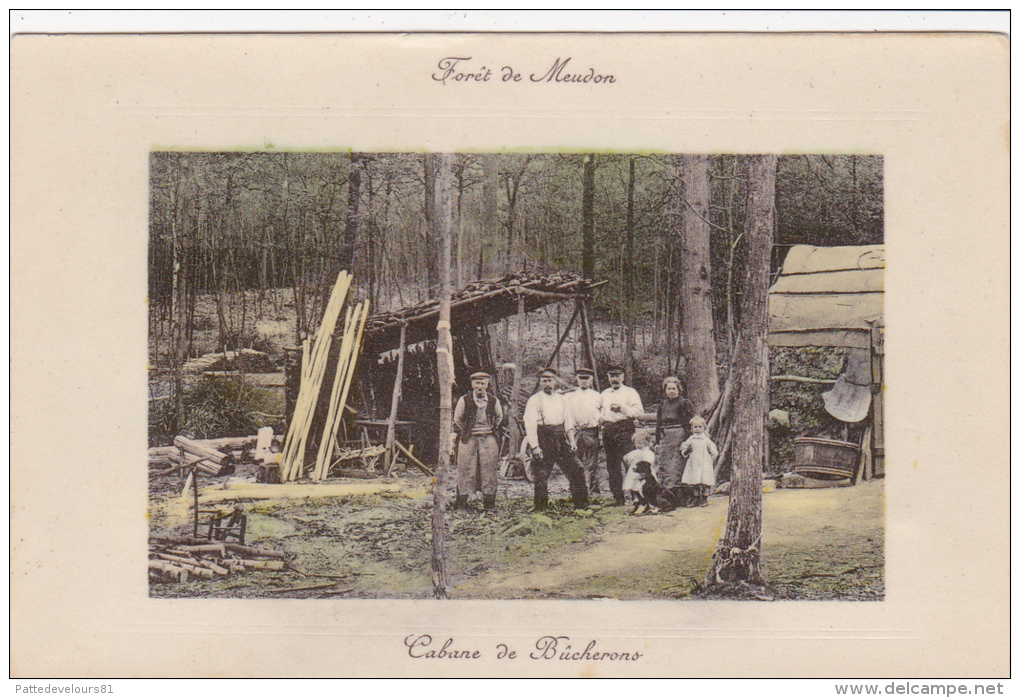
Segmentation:
<svg viewBox="0 0 1020 698">
<path fill-rule="evenodd" d="M 446 569 L 446 489 L 453 434 L 453 338 L 450 333 L 450 252 L 454 216 L 454 156 L 432 155 L 436 174 L 436 240 L 440 262 L 440 320 L 436 361 L 440 384 L 440 449 L 432 490 L 432 594 L 448 597 Z"/>
</svg>

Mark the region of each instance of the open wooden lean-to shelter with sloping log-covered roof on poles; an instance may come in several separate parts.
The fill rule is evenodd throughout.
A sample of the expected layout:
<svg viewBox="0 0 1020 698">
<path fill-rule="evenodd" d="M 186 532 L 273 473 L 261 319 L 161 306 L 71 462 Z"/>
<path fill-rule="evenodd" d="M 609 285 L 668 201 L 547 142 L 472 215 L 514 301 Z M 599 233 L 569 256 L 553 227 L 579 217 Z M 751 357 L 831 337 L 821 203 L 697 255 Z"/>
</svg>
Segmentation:
<svg viewBox="0 0 1020 698">
<path fill-rule="evenodd" d="M 572 301 L 574 304 L 573 313 L 561 332 L 556 348 L 547 360 L 547 365 L 556 360 L 560 349 L 574 327 L 574 322 L 579 318 L 583 359 L 588 367 L 594 369 L 596 367 L 595 350 L 589 320 L 588 297 L 591 291 L 600 285 L 568 272 L 550 275 L 515 272 L 500 279 L 473 282 L 453 294 L 450 304 L 450 323 L 451 334 L 454 337 L 455 383 L 461 390 L 466 390 L 467 386 L 470 385 L 470 375 L 477 370 L 484 370 L 494 377 L 496 384 L 494 387 L 498 394 L 505 396 L 509 392 L 512 449 L 516 450 L 519 446 L 523 431 L 520 409 L 520 367 L 523 363 L 524 315 L 553 303 Z M 506 387 L 501 387 L 498 384 L 488 328 L 512 316 L 518 318 L 517 350 L 514 363 L 516 369 L 513 386 L 507 391 Z M 419 423 L 424 421 L 420 418 L 423 414 L 429 417 L 431 415 L 438 416 L 438 408 L 432 395 L 437 380 L 435 376 L 436 355 L 430 345 L 425 345 L 425 343 L 437 340 L 438 318 L 439 301 L 430 299 L 398 310 L 376 313 L 369 317 L 365 329 L 362 352 L 366 360 L 361 365 L 362 400 L 368 410 L 374 414 L 380 411 L 382 396 L 389 398 L 387 472 L 392 467 L 392 444 L 394 443 L 397 415 L 402 402 L 411 400 L 425 408 L 424 412 L 420 409 L 415 410 L 415 416 L 419 417 Z M 386 376 L 379 375 L 385 363 L 382 357 L 391 352 L 396 352 L 396 367 L 393 378 L 390 378 L 389 370 L 386 371 Z M 411 363 L 417 364 L 413 367 L 416 380 L 409 382 L 407 371 L 411 367 L 409 365 Z M 596 377 L 596 382 L 598 384 L 598 377 Z M 389 391 L 386 390 L 388 385 L 392 386 Z"/>
</svg>

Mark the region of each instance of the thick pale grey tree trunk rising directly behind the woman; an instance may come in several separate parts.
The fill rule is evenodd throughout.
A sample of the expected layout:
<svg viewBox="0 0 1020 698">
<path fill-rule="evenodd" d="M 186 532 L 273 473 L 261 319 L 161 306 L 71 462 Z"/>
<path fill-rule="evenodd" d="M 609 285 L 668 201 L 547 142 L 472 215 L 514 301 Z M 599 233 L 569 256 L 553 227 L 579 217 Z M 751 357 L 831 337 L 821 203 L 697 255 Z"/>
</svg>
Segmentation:
<svg viewBox="0 0 1020 698">
<path fill-rule="evenodd" d="M 683 311 L 682 351 L 686 363 L 687 397 L 695 409 L 712 407 L 719 399 L 712 317 L 712 259 L 709 249 L 710 200 L 707 155 L 680 155 L 680 306 Z"/>
</svg>

